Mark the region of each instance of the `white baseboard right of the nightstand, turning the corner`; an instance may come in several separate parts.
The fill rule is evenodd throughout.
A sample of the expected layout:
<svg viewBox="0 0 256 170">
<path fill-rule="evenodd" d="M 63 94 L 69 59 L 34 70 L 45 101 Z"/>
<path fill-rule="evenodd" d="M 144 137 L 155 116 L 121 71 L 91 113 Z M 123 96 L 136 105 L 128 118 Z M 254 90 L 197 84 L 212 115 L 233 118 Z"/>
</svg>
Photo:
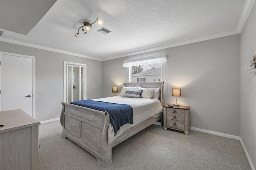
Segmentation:
<svg viewBox="0 0 256 170">
<path fill-rule="evenodd" d="M 214 135 L 217 135 L 217 136 L 222 136 L 222 137 L 226 137 L 226 138 L 231 138 L 231 139 L 236 139 L 236 140 L 239 140 L 240 143 L 242 144 L 242 147 L 244 149 L 244 153 L 246 154 L 246 157 L 247 157 L 247 160 L 250 164 L 250 167 L 252 170 L 255 170 L 253 164 L 252 164 L 252 160 L 244 146 L 244 142 L 242 141 L 242 138 L 240 136 L 234 136 L 234 135 L 231 135 L 231 134 L 225 134 L 225 133 L 220 133 L 220 132 L 214 132 L 214 131 L 211 131 L 211 130 L 205 130 L 205 129 L 201 129 L 201 128 L 195 128 L 195 127 L 190 127 L 191 130 L 196 130 L 198 132 L 204 132 L 204 133 L 209 133 L 209 134 L 214 134 Z"/>
</svg>

